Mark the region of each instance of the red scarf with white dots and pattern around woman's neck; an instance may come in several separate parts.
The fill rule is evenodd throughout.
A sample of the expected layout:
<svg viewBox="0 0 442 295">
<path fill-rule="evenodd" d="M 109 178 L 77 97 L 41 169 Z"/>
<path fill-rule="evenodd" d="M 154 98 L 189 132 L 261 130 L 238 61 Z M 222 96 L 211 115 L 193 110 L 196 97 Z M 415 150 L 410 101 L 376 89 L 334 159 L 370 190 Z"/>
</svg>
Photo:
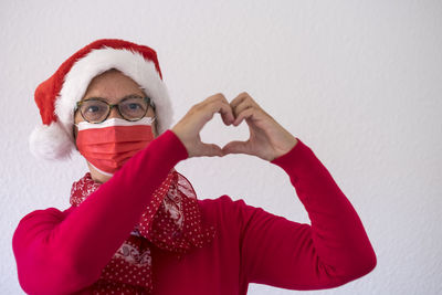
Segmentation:
<svg viewBox="0 0 442 295">
<path fill-rule="evenodd" d="M 91 173 L 72 185 L 70 202 L 80 206 L 99 188 Z M 93 294 L 151 294 L 152 267 L 149 242 L 178 253 L 202 247 L 214 238 L 213 226 L 202 228 L 196 192 L 189 180 L 172 168 L 152 193 L 129 238 L 122 244 L 92 286 Z"/>
</svg>

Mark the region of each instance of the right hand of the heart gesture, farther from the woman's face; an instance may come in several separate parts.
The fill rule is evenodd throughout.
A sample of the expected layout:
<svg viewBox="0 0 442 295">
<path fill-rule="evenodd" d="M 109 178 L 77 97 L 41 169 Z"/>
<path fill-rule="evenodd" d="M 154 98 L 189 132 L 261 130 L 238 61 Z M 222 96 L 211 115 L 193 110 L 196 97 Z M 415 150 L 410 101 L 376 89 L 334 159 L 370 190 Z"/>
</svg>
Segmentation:
<svg viewBox="0 0 442 295">
<path fill-rule="evenodd" d="M 224 155 L 248 154 L 272 161 L 297 144 L 298 140 L 265 113 L 246 92 L 238 95 L 230 106 L 235 117 L 232 125 L 238 126 L 245 119 L 250 138 L 246 141 L 230 141 L 222 148 Z"/>
</svg>

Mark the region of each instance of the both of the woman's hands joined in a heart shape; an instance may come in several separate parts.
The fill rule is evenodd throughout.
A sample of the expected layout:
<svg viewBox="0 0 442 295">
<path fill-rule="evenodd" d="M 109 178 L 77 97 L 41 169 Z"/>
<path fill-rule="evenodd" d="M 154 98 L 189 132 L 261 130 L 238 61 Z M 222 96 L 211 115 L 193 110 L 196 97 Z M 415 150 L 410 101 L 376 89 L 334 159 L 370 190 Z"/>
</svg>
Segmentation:
<svg viewBox="0 0 442 295">
<path fill-rule="evenodd" d="M 229 138 L 229 143 L 222 148 L 217 144 L 208 144 L 220 139 L 220 134 L 223 134 L 220 130 L 227 130 L 214 128 L 212 120 L 215 114 L 220 114 L 224 125 L 231 127 L 242 126 L 245 120 L 250 130 L 249 138 L 231 140 L 229 133 L 222 135 L 222 138 Z M 209 128 L 204 128 L 202 133 L 207 125 Z M 271 161 L 291 150 L 297 143 L 296 138 L 263 110 L 248 93 L 241 93 L 231 103 L 222 94 L 210 96 L 192 106 L 172 130 L 186 146 L 189 157 L 246 154 Z M 200 134 L 211 140 L 201 140 Z"/>
</svg>

